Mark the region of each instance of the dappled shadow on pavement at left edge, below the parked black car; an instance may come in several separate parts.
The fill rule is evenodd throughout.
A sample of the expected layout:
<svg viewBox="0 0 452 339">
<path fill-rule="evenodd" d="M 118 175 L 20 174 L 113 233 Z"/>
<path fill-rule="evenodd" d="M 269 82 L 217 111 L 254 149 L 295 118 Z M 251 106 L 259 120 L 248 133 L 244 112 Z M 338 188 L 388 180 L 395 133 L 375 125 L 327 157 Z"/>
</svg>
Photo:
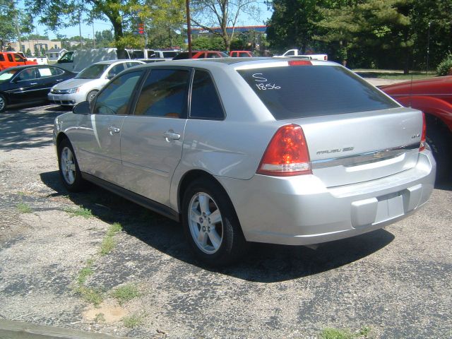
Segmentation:
<svg viewBox="0 0 452 339">
<path fill-rule="evenodd" d="M 52 144 L 54 119 L 67 112 L 59 106 L 22 105 L 0 114 L 1 150 L 40 148 Z M 26 136 L 26 138 L 24 138 Z"/>
</svg>

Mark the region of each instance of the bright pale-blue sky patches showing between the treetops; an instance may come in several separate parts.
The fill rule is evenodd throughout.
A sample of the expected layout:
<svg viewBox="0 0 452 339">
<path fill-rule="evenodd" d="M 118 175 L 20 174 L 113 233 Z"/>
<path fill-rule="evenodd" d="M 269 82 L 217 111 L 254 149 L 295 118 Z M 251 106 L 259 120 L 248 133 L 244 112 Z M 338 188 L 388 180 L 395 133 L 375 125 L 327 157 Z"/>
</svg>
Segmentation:
<svg viewBox="0 0 452 339">
<path fill-rule="evenodd" d="M 263 25 L 263 23 L 268 20 L 271 16 L 271 12 L 267 10 L 266 4 L 263 3 L 263 0 L 258 0 L 259 8 L 261 10 L 260 18 L 248 18 L 247 16 L 239 17 L 239 22 L 237 26 L 248 26 L 248 25 Z M 24 8 L 23 0 L 19 1 L 19 7 Z M 39 35 L 48 35 L 49 39 L 56 39 L 57 33 L 61 35 L 66 35 L 66 37 L 75 37 L 79 35 L 78 25 L 73 26 L 71 28 L 64 28 L 59 30 L 59 32 L 52 32 L 51 30 L 47 30 L 47 28 L 43 25 L 39 25 L 37 23 L 37 19 L 35 19 L 35 34 Z M 102 30 L 112 30 L 112 25 L 108 21 L 95 20 L 93 25 L 85 25 L 81 24 L 81 35 L 83 37 L 93 38 L 93 30 L 94 32 L 102 32 Z"/>
</svg>

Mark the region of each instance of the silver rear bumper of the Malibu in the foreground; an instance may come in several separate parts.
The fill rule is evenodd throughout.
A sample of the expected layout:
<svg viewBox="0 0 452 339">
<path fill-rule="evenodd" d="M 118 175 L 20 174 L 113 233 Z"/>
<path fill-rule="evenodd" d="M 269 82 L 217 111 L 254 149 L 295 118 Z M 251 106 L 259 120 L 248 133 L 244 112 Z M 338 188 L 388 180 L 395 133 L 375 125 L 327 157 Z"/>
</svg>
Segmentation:
<svg viewBox="0 0 452 339">
<path fill-rule="evenodd" d="M 328 188 L 314 175 L 249 180 L 217 177 L 234 203 L 246 240 L 319 244 L 384 227 L 427 202 L 434 188 L 432 153 L 388 177 Z"/>
</svg>

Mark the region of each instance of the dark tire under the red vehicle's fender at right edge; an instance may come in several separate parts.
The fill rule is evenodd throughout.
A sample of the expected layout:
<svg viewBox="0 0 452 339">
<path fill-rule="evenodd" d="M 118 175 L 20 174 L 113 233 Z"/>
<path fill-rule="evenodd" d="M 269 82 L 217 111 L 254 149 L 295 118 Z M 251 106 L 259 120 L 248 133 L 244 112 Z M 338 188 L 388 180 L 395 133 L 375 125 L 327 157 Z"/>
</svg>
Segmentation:
<svg viewBox="0 0 452 339">
<path fill-rule="evenodd" d="M 436 160 L 436 182 L 442 182 L 451 177 L 451 135 L 435 121 L 428 121 L 426 139 Z"/>
</svg>

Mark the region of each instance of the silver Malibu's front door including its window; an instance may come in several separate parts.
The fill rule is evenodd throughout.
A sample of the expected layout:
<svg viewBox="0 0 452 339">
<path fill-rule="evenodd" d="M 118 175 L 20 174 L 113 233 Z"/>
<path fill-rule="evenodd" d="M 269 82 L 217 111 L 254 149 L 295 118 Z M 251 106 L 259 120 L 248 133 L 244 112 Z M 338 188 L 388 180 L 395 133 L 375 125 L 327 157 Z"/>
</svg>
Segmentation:
<svg viewBox="0 0 452 339">
<path fill-rule="evenodd" d="M 76 145 L 83 172 L 114 184 L 121 172 L 121 128 L 130 112 L 136 86 L 144 71 L 124 73 L 108 83 L 92 103 L 91 114 L 84 116 L 71 142 Z"/>
</svg>

